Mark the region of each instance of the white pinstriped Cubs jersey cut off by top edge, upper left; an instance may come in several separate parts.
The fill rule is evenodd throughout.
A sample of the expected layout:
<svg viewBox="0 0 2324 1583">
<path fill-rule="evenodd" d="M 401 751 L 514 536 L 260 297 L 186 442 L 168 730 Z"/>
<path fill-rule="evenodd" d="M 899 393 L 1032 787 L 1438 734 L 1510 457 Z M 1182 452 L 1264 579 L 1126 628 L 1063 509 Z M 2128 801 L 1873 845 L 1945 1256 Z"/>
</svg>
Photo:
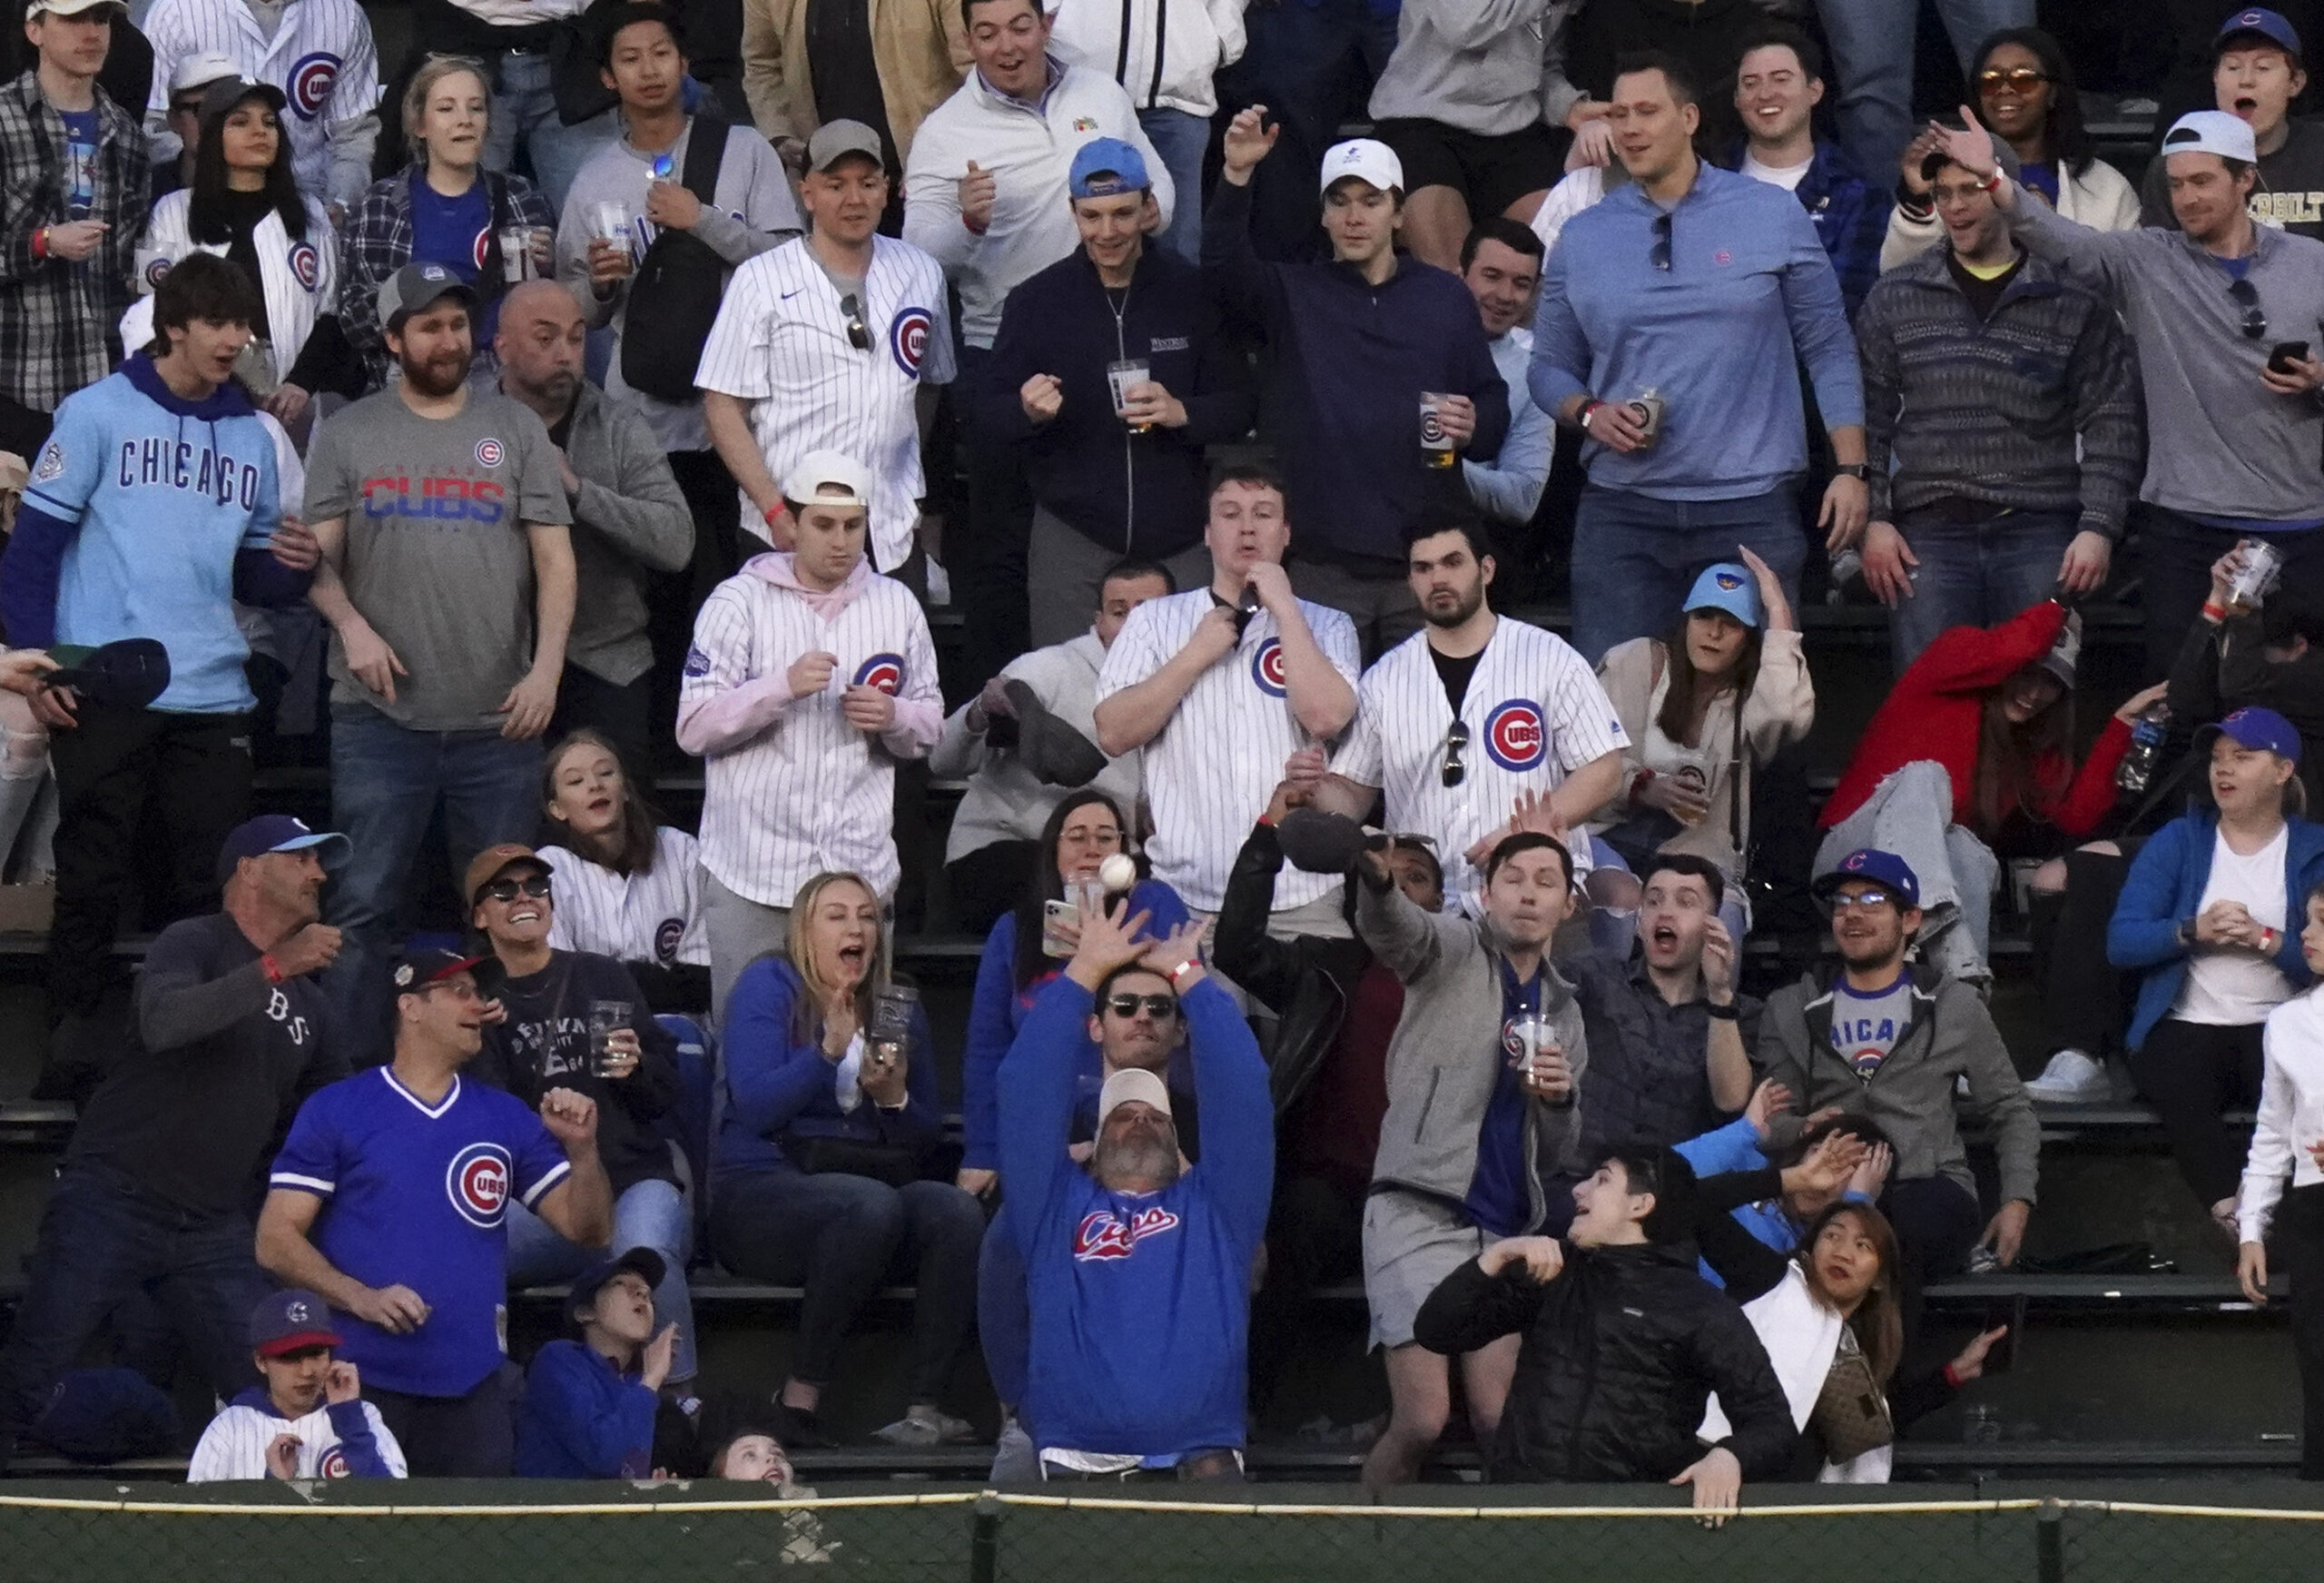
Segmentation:
<svg viewBox="0 0 2324 1583">
<path fill-rule="evenodd" d="M 272 40 L 244 0 L 156 0 L 144 35 L 153 44 L 149 128 L 160 128 L 170 112 L 177 63 L 214 49 L 246 81 L 284 91 L 290 170 L 302 193 L 330 200 L 330 128 L 379 107 L 379 46 L 356 0 L 290 0 Z"/>
</svg>

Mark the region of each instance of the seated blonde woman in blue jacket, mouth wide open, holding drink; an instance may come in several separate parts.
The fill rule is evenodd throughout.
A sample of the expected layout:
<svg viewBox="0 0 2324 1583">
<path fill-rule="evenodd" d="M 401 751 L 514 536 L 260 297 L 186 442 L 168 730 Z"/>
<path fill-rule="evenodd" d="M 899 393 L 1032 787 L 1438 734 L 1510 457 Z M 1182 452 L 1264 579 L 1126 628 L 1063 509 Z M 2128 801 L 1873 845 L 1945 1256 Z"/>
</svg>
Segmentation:
<svg viewBox="0 0 2324 1583">
<path fill-rule="evenodd" d="M 904 1046 L 871 1044 L 885 983 L 878 897 L 855 874 L 816 874 L 792 902 L 783 953 L 727 995 L 720 1123 L 711 1148 L 711 1248 L 739 1276 L 804 1285 L 799 1344 L 776 1395 L 786 1446 L 832 1446 L 816 1411 L 839 1344 L 883 1281 L 920 1288 L 911 1406 L 878 1430 L 897 1446 L 969 1439 L 937 1404 L 976 1311 L 976 1199 L 923 1169 L 944 1139 L 927 1018 Z"/>
</svg>

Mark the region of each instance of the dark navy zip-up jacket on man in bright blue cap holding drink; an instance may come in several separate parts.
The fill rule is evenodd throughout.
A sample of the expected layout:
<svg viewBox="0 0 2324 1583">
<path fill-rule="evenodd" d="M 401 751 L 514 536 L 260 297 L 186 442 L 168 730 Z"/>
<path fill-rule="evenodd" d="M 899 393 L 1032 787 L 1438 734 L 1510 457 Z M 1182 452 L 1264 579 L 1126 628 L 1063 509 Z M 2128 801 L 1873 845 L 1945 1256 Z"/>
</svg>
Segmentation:
<svg viewBox="0 0 2324 1583">
<path fill-rule="evenodd" d="M 1113 416 L 1106 365 L 1127 358 L 1185 402 L 1183 428 L 1134 435 Z M 1018 400 L 1034 374 L 1053 374 L 1064 393 L 1048 423 Z M 1202 542 L 1211 514 L 1202 449 L 1248 435 L 1255 409 L 1248 365 L 1220 332 L 1202 270 L 1157 246 L 1139 258 L 1120 318 L 1083 249 L 1011 291 L 976 397 L 985 435 L 1020 446 L 1034 500 L 1092 544 L 1146 560 Z"/>
</svg>

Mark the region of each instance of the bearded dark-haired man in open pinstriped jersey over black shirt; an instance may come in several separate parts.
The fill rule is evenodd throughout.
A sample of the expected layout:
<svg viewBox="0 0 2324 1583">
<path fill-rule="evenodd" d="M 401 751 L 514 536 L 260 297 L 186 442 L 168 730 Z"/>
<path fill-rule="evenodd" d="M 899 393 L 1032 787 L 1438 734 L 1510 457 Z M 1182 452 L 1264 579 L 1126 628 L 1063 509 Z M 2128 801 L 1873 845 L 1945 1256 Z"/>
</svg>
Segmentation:
<svg viewBox="0 0 2324 1583">
<path fill-rule="evenodd" d="M 1606 688 L 1543 628 L 1485 602 L 1494 563 L 1473 516 L 1425 521 L 1406 576 L 1427 625 L 1364 672 L 1355 730 L 1318 788 L 1362 818 L 1387 793 L 1387 828 L 1436 841 L 1446 897 L 1480 907 L 1485 853 L 1513 835 L 1520 800 L 1548 814 L 1590 872 L 1583 818 L 1622 779 L 1629 732 Z"/>
</svg>

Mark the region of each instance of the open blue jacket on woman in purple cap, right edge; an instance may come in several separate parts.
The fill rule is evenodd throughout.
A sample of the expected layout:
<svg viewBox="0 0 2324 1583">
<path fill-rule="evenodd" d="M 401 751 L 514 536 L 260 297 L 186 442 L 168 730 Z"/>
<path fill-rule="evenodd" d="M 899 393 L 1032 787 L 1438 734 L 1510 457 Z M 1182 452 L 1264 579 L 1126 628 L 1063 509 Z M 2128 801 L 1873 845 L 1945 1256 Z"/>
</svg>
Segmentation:
<svg viewBox="0 0 2324 1583">
<path fill-rule="evenodd" d="M 2291 988 L 2308 986 L 2308 962 L 2301 958 L 2301 923 L 2308 916 L 2308 893 L 2324 883 L 2324 825 L 2305 818 L 2284 821 L 2284 930 L 2275 946 L 2275 965 Z M 2154 832 L 2122 881 L 2122 900 L 2106 923 L 2106 960 L 2115 967 L 2140 967 L 2138 1007 L 2131 1011 L 2129 1046 L 2147 1041 L 2178 1000 L 2187 981 L 2187 951 L 2178 944 L 2178 925 L 2196 916 L 2203 886 L 2210 881 L 2210 853 L 2219 835 L 2217 809 L 2189 809 Z"/>
</svg>

